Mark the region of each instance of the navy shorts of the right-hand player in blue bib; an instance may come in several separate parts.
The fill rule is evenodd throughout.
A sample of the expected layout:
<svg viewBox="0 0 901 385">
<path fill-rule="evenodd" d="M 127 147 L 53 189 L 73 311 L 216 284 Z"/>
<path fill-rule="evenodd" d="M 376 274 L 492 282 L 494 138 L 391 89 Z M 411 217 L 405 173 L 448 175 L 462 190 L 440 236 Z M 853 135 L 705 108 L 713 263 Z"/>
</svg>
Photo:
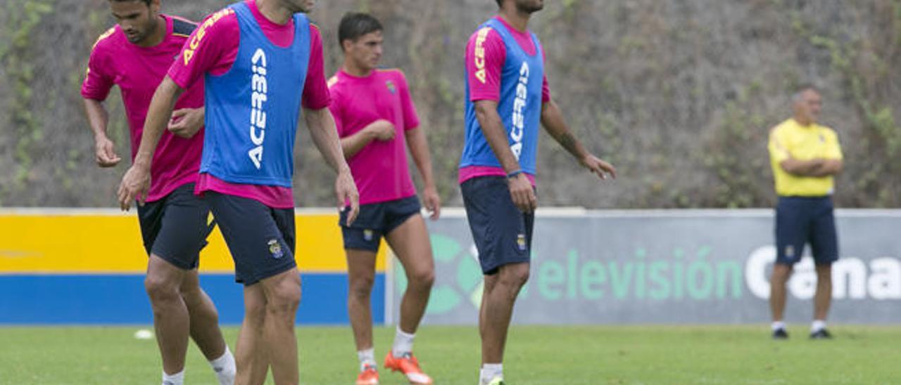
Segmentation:
<svg viewBox="0 0 901 385">
<path fill-rule="evenodd" d="M 492 275 L 505 264 L 532 259 L 535 214 L 516 208 L 506 177 L 475 177 L 460 184 L 460 191 L 482 273 Z"/>
</svg>

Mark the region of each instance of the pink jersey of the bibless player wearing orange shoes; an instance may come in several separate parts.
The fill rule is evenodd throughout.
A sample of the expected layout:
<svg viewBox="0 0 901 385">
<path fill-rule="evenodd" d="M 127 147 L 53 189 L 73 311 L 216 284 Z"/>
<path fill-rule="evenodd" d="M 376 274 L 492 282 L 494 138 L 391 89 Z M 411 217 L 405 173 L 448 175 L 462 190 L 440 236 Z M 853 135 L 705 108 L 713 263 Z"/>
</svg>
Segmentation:
<svg viewBox="0 0 901 385">
<path fill-rule="evenodd" d="M 404 73 L 376 70 L 366 77 L 338 71 L 329 79 L 332 116 L 341 138 L 349 137 L 373 121 L 386 120 L 395 130 L 419 127 L 416 107 Z M 416 194 L 406 162 L 404 132 L 389 141 L 373 140 L 348 160 L 359 189 L 359 203 L 394 201 Z"/>
</svg>

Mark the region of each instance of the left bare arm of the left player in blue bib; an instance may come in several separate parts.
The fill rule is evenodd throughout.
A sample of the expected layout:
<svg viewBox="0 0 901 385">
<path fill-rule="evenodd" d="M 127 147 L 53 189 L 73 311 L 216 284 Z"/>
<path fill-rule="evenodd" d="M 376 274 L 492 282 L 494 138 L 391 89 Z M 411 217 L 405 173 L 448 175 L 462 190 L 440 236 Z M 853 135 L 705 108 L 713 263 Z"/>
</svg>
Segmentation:
<svg viewBox="0 0 901 385">
<path fill-rule="evenodd" d="M 129 210 L 135 198 L 141 204 L 147 199 L 147 192 L 150 190 L 150 164 L 153 160 L 153 153 L 157 149 L 159 138 L 166 130 L 178 95 L 184 91 L 166 76 L 157 87 L 157 91 L 153 93 L 153 99 L 150 100 L 150 108 L 147 111 L 147 121 L 144 122 L 144 130 L 141 133 L 141 146 L 138 148 L 138 154 L 134 157 L 132 167 L 123 176 L 122 184 L 119 184 L 119 207 L 122 210 Z"/>
</svg>

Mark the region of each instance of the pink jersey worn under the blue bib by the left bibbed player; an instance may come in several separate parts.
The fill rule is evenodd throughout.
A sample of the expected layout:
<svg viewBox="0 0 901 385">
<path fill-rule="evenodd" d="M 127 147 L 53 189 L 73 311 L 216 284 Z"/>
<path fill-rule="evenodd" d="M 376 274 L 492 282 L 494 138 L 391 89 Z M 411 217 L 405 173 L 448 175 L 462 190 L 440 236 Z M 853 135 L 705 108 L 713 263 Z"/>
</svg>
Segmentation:
<svg viewBox="0 0 901 385">
<path fill-rule="evenodd" d="M 273 44 L 288 47 L 294 42 L 294 21 L 281 25 L 269 21 L 259 13 L 256 1 L 246 0 L 250 12 L 260 29 Z M 232 68 L 238 57 L 238 46 L 241 38 L 241 27 L 238 17 L 229 9 L 224 9 L 207 16 L 197 28 L 188 44 L 169 68 L 168 76 L 182 88 L 193 86 L 203 79 L 205 74 L 223 75 Z M 306 74 L 306 83 L 302 103 L 305 108 L 320 110 L 331 103 L 328 85 L 325 84 L 323 68 L 323 40 L 319 29 L 310 24 L 310 63 Z M 203 174 L 197 183 L 196 192 L 214 191 L 229 195 L 254 199 L 277 209 L 294 207 L 294 194 L 290 188 L 265 186 L 257 184 L 230 184 L 213 175 Z"/>
</svg>

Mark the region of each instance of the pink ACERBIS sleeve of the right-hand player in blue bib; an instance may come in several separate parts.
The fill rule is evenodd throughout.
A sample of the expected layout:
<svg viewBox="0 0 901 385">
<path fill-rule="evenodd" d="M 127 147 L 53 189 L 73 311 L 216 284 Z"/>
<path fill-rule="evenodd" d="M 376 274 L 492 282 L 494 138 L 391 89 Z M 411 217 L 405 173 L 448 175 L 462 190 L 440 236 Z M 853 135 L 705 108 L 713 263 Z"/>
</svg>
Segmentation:
<svg viewBox="0 0 901 385">
<path fill-rule="evenodd" d="M 466 46 L 466 82 L 470 101 L 500 101 L 501 71 L 505 60 L 504 40 L 490 27 L 478 30 L 469 38 Z"/>
</svg>

